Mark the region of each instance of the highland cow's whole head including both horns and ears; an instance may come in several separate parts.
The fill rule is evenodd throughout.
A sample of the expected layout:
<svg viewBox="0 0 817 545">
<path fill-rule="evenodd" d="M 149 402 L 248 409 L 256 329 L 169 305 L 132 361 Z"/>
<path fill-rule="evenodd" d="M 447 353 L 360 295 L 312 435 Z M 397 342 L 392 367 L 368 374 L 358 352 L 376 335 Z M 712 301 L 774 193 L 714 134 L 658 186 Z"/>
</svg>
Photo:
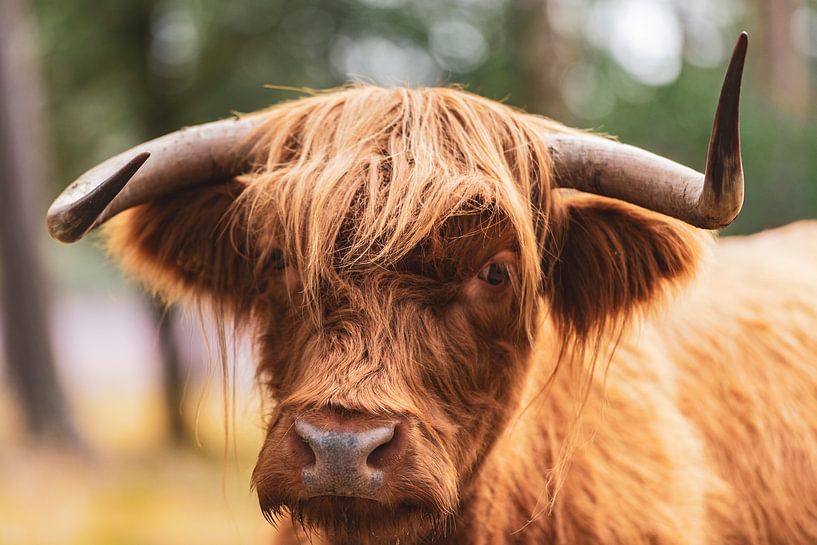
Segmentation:
<svg viewBox="0 0 817 545">
<path fill-rule="evenodd" d="M 49 225 L 74 240 L 117 216 L 128 271 L 251 333 L 269 517 L 411 542 L 467 497 L 533 346 L 593 338 L 690 273 L 698 237 L 673 217 L 737 214 L 745 47 L 706 176 L 460 90 L 354 86 L 125 152 Z"/>
</svg>

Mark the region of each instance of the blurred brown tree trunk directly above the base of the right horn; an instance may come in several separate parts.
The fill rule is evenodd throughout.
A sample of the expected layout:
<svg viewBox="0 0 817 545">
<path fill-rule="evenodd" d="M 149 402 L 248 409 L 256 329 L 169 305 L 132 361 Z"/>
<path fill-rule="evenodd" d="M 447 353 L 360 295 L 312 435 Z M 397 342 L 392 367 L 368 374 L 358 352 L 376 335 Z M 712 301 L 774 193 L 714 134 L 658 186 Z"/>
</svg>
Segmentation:
<svg viewBox="0 0 817 545">
<path fill-rule="evenodd" d="M 575 44 L 554 34 L 548 0 L 514 0 L 517 53 L 525 88 L 525 109 L 568 122 L 562 82 L 573 64 Z"/>
</svg>

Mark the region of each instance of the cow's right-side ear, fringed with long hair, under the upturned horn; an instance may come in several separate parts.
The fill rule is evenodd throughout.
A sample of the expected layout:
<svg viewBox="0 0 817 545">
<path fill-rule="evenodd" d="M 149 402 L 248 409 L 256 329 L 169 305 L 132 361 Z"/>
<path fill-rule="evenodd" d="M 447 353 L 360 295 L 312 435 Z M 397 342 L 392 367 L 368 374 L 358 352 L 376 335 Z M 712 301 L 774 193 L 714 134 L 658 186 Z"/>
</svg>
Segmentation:
<svg viewBox="0 0 817 545">
<path fill-rule="evenodd" d="M 696 271 L 707 232 L 632 204 L 578 195 L 557 204 L 549 270 L 551 312 L 568 337 L 586 338 Z"/>
</svg>

